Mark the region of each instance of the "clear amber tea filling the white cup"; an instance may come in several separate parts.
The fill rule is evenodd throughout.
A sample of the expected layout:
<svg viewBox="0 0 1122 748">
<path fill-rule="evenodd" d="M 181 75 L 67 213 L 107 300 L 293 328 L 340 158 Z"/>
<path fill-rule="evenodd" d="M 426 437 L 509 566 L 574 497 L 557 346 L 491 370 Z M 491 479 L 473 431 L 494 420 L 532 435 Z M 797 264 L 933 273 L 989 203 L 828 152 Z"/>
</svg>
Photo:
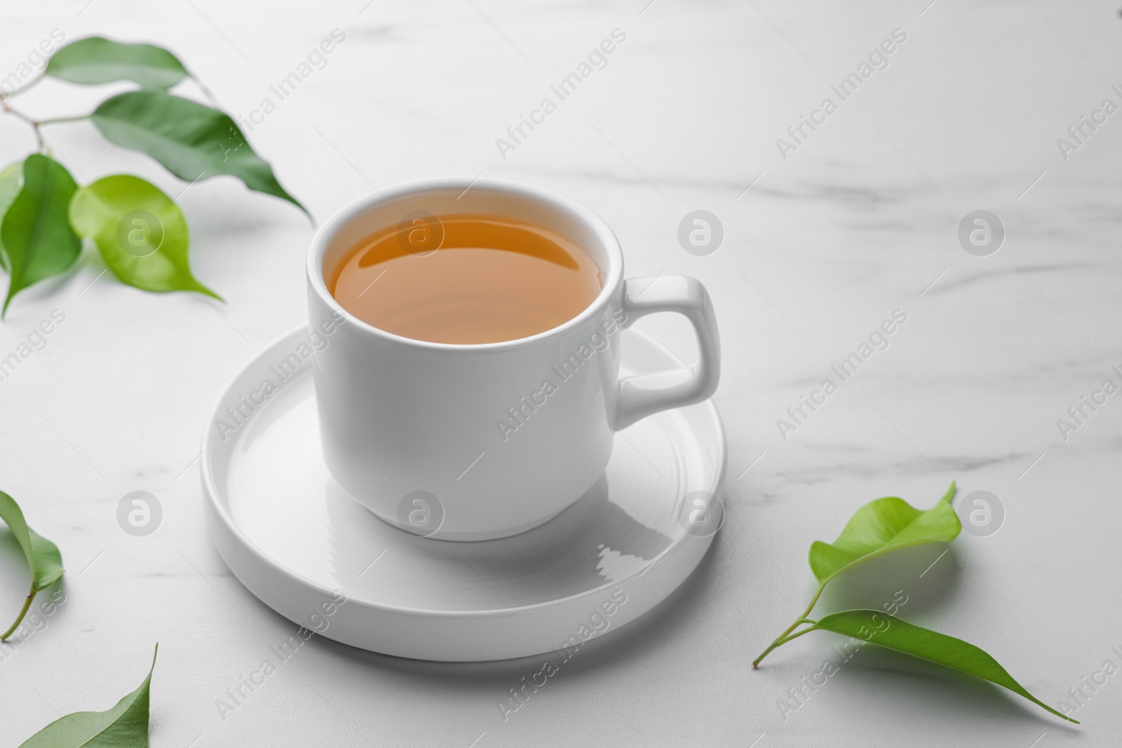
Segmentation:
<svg viewBox="0 0 1122 748">
<path fill-rule="evenodd" d="M 436 343 L 545 332 L 588 308 L 601 288 L 599 267 L 572 241 L 478 214 L 430 214 L 384 229 L 328 277 L 331 295 L 359 320 Z"/>
</svg>

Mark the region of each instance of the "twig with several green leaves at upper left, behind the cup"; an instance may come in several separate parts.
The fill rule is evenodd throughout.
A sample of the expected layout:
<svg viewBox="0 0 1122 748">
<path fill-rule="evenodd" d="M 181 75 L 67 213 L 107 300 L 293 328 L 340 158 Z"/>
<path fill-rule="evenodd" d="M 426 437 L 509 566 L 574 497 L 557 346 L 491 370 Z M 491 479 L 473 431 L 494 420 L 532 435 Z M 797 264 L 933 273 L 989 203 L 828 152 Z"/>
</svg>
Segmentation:
<svg viewBox="0 0 1122 748">
<path fill-rule="evenodd" d="M 130 81 L 140 89 L 110 96 L 91 113 L 75 117 L 40 120 L 12 105 L 13 98 L 48 77 L 81 85 Z M 98 247 L 122 283 L 150 292 L 193 290 L 221 298 L 191 274 L 187 222 L 174 200 L 130 175 L 80 187 L 54 158 L 44 126 L 89 120 L 110 142 L 147 154 L 185 182 L 234 176 L 250 190 L 307 213 L 228 114 L 169 92 L 188 77 L 213 103 L 210 92 L 171 52 L 91 37 L 61 47 L 43 74 L 22 87 L 0 92 L 0 111 L 30 126 L 38 145 L 38 153 L 0 170 L 0 267 L 11 276 L 0 316 L 16 294 L 68 270 L 82 252 L 83 239 Z"/>
</svg>

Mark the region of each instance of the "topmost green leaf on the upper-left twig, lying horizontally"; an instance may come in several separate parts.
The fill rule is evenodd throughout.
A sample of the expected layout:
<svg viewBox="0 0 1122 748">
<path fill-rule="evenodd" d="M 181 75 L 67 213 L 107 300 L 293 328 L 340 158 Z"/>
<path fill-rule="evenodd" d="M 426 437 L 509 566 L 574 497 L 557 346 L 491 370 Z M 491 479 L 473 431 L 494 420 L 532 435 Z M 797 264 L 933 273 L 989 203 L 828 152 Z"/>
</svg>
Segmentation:
<svg viewBox="0 0 1122 748">
<path fill-rule="evenodd" d="M 167 49 L 150 44 L 122 44 L 99 36 L 72 41 L 56 52 L 45 75 L 96 85 L 134 81 L 146 89 L 171 89 L 187 77 L 187 68 Z"/>
</svg>

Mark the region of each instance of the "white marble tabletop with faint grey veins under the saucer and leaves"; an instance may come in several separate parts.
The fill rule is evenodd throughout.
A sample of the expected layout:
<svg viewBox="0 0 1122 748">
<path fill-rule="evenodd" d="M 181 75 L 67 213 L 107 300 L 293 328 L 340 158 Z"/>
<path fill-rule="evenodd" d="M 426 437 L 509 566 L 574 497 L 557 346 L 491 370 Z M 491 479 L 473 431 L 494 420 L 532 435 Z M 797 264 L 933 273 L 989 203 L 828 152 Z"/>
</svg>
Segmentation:
<svg viewBox="0 0 1122 748">
<path fill-rule="evenodd" d="M 158 640 L 155 746 L 1119 745 L 1122 676 L 1073 727 L 872 649 L 782 714 L 787 690 L 831 656 L 826 634 L 749 664 L 809 597 L 811 541 L 833 539 L 866 500 L 928 506 L 955 479 L 1000 498 L 1000 532 L 964 534 L 944 556 L 927 546 L 885 558 L 839 580 L 821 610 L 880 607 L 903 590 L 902 616 L 985 647 L 1049 704 L 1104 661 L 1122 665 L 1111 649 L 1122 649 L 1122 404 L 1107 398 L 1066 440 L 1057 427 L 1122 367 L 1122 116 L 1085 129 L 1066 159 L 1057 146 L 1104 99 L 1122 103 L 1118 4 L 647 1 L 4 4 L 0 74 L 56 28 L 165 44 L 227 109 L 260 122 L 254 146 L 321 219 L 375 186 L 445 174 L 532 182 L 589 205 L 619 236 L 629 275 L 709 287 L 729 468 L 727 523 L 684 588 L 582 650 L 506 721 L 497 702 L 532 661 L 417 663 L 320 637 L 220 714 L 215 701 L 292 625 L 208 539 L 200 434 L 229 378 L 302 320 L 312 229 L 232 179 L 201 182 L 182 196 L 193 267 L 227 304 L 131 289 L 88 257 L 18 297 L 0 325 L 3 355 L 52 310 L 65 314 L 0 381 L 0 488 L 68 570 L 65 603 L 3 649 L 0 741 L 108 709 Z M 335 28 L 346 40 L 327 65 L 254 114 Z M 626 40 L 607 66 L 500 154 L 507 127 L 617 28 Z M 830 86 L 893 29 L 907 39 L 889 45 L 888 66 L 842 101 Z M 24 103 L 65 114 L 100 93 L 44 84 Z M 827 96 L 836 111 L 816 114 Z M 776 139 L 801 116 L 820 123 L 784 159 Z M 184 187 L 86 123 L 50 132 L 84 181 L 128 170 L 173 195 Z M 3 163 L 34 145 L 12 118 L 0 133 Z M 724 224 L 707 257 L 675 236 L 697 209 Z M 982 209 L 1008 231 L 987 257 L 957 239 Z M 907 322 L 889 348 L 782 438 L 776 419 L 894 310 Z M 680 322 L 643 326 L 688 357 Z M 148 537 L 117 524 L 134 490 L 164 507 Z M 16 610 L 25 579 L 11 543 L 0 562 L 0 610 Z"/>
</svg>

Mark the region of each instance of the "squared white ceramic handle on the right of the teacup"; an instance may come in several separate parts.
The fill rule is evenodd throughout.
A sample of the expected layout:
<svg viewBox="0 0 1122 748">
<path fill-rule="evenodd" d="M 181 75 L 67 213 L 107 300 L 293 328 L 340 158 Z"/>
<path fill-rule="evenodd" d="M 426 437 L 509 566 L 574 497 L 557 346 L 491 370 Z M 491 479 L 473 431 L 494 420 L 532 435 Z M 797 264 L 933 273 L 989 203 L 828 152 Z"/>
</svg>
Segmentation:
<svg viewBox="0 0 1122 748">
<path fill-rule="evenodd" d="M 696 278 L 659 276 L 624 281 L 623 310 L 629 327 L 640 317 L 655 312 L 678 312 L 693 324 L 698 336 L 698 362 L 689 367 L 625 377 L 616 398 L 616 431 L 649 415 L 700 403 L 717 389 L 720 380 L 720 340 L 709 293 Z"/>
</svg>

